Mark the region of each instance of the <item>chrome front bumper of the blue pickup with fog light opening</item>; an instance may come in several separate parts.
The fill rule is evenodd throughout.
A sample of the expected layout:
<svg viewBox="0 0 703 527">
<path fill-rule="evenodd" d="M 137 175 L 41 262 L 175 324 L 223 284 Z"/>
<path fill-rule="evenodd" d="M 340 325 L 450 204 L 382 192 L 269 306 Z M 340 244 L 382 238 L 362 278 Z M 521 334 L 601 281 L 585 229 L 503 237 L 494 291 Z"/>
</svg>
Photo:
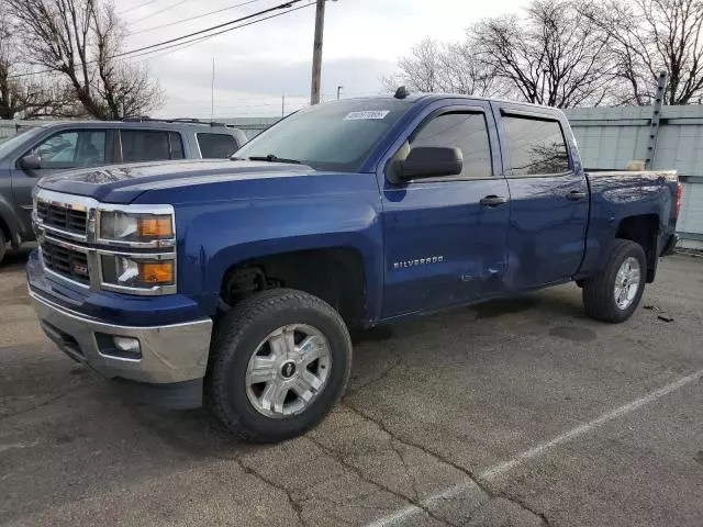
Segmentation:
<svg viewBox="0 0 703 527">
<path fill-rule="evenodd" d="M 90 318 L 30 290 L 42 329 L 64 352 L 110 379 L 149 384 L 201 380 L 205 375 L 212 319 L 163 326 L 121 326 Z M 140 341 L 141 354 L 125 356 L 113 336 Z"/>
</svg>

